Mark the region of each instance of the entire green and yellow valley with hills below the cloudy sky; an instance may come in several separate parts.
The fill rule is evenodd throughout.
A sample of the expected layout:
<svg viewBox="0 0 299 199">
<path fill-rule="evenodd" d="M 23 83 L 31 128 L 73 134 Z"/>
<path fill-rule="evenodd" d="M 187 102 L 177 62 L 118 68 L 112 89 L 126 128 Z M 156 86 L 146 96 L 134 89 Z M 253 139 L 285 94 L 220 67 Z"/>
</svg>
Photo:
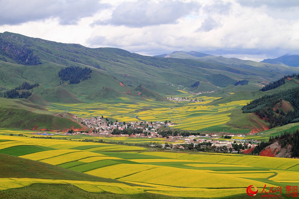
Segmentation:
<svg viewBox="0 0 299 199">
<path fill-rule="evenodd" d="M 288 198 L 299 68 L 275 63 L 0 33 L 0 197 Z"/>
</svg>

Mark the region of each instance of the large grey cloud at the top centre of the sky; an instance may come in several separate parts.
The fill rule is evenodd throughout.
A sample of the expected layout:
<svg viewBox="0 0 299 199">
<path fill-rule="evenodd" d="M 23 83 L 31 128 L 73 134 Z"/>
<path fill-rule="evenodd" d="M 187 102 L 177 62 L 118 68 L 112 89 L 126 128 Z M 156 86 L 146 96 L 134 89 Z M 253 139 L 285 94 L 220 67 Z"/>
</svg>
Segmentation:
<svg viewBox="0 0 299 199">
<path fill-rule="evenodd" d="M 128 27 L 174 24 L 180 17 L 199 8 L 199 3 L 184 3 L 178 0 L 124 2 L 113 10 L 110 19 L 98 20 L 94 24 Z"/>
</svg>

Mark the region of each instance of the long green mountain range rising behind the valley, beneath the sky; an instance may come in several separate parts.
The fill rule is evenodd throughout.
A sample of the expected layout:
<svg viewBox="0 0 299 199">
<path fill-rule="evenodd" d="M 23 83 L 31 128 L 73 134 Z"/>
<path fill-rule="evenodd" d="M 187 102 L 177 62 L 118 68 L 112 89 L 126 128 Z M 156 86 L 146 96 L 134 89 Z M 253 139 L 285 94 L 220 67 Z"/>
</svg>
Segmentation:
<svg viewBox="0 0 299 199">
<path fill-rule="evenodd" d="M 40 86 L 32 92 L 50 102 L 82 102 L 103 87 L 111 87 L 131 98 L 130 93 L 134 93 L 134 88 L 140 84 L 162 96 L 177 93 L 178 85 L 190 91 L 216 91 L 221 90 L 219 85 L 226 87 L 227 84 L 210 81 L 209 78 L 215 75 L 225 75 L 232 79 L 231 82 L 248 80 L 248 86 L 242 86 L 242 90 L 252 91 L 252 87 L 258 88 L 258 81 L 276 80 L 282 75 L 299 72 L 298 68 L 276 65 L 274 68 L 271 64 L 195 51 L 173 54 L 203 60 L 142 56 L 117 48 L 88 48 L 9 32 L 1 33 L 0 39 L 0 95 L 24 81 L 37 82 Z M 91 68 L 90 78 L 78 84 L 63 82 L 58 72 L 69 66 Z M 197 81 L 200 81 L 199 86 L 190 86 Z M 61 95 L 63 91 L 66 96 Z"/>
</svg>

